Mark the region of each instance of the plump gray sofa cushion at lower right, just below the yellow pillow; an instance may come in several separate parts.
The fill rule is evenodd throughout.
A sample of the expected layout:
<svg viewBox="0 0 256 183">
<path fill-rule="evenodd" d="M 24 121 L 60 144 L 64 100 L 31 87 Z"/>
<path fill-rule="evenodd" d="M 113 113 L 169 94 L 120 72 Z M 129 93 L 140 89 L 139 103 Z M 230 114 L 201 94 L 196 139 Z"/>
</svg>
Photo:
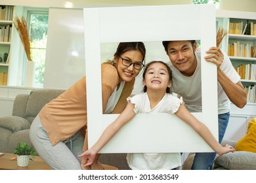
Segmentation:
<svg viewBox="0 0 256 183">
<path fill-rule="evenodd" d="M 223 156 L 217 156 L 214 161 L 214 168 L 224 167 L 230 170 L 255 170 L 256 154 L 253 152 L 230 152 Z"/>
</svg>

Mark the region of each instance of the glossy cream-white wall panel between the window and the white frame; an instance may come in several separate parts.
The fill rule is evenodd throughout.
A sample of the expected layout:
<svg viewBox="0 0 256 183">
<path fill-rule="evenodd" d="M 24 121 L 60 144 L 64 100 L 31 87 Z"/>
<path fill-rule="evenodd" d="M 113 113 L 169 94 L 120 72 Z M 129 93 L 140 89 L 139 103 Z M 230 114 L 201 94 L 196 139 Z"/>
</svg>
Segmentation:
<svg viewBox="0 0 256 183">
<path fill-rule="evenodd" d="M 85 75 L 83 10 L 50 8 L 43 88 L 67 89 Z"/>
</svg>

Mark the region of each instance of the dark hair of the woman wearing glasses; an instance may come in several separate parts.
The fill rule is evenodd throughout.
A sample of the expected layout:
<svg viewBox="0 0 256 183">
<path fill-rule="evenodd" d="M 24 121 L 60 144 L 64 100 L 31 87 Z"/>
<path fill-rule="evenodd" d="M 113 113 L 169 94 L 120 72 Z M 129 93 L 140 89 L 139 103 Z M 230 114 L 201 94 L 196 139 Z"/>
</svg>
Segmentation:
<svg viewBox="0 0 256 183">
<path fill-rule="evenodd" d="M 114 58 L 119 58 L 124 52 L 130 50 L 138 50 L 143 56 L 142 62 L 145 61 L 146 48 L 143 42 L 120 42 L 117 46 Z"/>
</svg>

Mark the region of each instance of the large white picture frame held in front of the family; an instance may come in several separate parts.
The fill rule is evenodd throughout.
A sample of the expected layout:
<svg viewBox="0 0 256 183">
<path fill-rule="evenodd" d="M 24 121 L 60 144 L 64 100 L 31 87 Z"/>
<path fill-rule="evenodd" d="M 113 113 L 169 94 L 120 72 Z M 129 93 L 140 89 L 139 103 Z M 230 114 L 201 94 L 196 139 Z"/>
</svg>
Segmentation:
<svg viewBox="0 0 256 183">
<path fill-rule="evenodd" d="M 214 5 L 84 8 L 83 18 L 89 148 L 119 115 L 102 114 L 100 43 L 201 40 L 202 58 L 206 50 L 216 45 Z M 218 139 L 217 111 L 217 69 L 202 59 L 202 112 L 192 114 L 207 125 L 215 139 Z M 100 150 L 100 153 L 129 152 L 213 150 L 175 115 L 137 114 Z"/>
</svg>

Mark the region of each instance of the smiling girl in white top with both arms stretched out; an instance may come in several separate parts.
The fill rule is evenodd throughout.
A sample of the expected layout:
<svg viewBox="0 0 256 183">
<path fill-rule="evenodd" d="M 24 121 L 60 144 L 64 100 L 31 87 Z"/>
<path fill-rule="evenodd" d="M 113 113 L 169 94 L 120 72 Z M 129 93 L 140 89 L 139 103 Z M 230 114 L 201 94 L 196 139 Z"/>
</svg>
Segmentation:
<svg viewBox="0 0 256 183">
<path fill-rule="evenodd" d="M 101 135 L 95 145 L 79 155 L 87 157 L 88 161 L 85 166 L 91 165 L 95 160 L 97 152 L 116 134 L 116 132 L 137 113 L 156 113 L 167 112 L 176 114 L 181 120 L 188 123 L 193 129 L 217 152 L 223 155 L 228 152 L 234 152 L 234 148 L 221 146 L 209 129 L 199 122 L 184 107 L 182 99 L 171 94 L 171 69 L 162 61 L 152 61 L 148 63 L 143 73 L 144 93 L 128 97 L 127 107 L 110 124 Z M 141 102 L 143 101 L 143 102 Z M 131 169 L 174 169 L 181 165 L 181 155 L 179 153 L 164 154 L 127 154 L 127 162 Z"/>
</svg>

